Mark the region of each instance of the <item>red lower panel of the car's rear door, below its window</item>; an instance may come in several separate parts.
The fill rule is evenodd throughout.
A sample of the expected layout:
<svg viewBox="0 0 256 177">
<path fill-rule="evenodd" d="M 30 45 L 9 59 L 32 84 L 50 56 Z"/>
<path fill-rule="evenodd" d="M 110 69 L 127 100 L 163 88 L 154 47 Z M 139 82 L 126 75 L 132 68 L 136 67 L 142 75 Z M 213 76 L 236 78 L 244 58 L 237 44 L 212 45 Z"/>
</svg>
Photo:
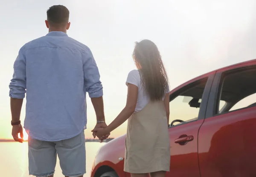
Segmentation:
<svg viewBox="0 0 256 177">
<path fill-rule="evenodd" d="M 207 118 L 198 136 L 201 177 L 256 176 L 256 107 Z"/>
</svg>

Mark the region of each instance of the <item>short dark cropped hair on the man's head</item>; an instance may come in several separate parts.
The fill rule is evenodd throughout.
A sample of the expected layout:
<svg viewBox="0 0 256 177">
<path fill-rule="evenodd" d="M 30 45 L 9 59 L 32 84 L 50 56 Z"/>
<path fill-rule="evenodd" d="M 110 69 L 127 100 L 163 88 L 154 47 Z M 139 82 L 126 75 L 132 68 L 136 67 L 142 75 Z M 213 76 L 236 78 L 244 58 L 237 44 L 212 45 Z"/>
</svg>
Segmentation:
<svg viewBox="0 0 256 177">
<path fill-rule="evenodd" d="M 51 6 L 47 10 L 47 20 L 51 25 L 64 25 L 69 21 L 69 10 L 62 5 Z"/>
</svg>

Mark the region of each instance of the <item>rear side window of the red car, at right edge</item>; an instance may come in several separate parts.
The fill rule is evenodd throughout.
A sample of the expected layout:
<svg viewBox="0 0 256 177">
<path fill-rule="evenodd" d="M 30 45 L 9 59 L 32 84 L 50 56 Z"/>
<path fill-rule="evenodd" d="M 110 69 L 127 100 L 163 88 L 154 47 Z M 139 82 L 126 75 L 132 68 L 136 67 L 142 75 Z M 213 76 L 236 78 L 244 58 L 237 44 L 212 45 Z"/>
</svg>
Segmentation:
<svg viewBox="0 0 256 177">
<path fill-rule="evenodd" d="M 237 69 L 223 73 L 219 89 L 219 100 L 225 102 L 218 112 L 222 114 L 248 106 L 256 106 L 256 67 Z M 254 104 L 255 103 L 255 104 Z"/>
</svg>

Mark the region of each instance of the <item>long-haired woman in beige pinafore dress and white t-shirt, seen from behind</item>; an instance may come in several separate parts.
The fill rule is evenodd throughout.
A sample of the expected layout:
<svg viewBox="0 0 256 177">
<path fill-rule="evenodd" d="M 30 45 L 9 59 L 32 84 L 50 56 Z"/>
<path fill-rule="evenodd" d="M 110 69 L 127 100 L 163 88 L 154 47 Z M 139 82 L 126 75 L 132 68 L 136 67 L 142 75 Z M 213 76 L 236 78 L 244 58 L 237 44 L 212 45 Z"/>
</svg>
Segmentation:
<svg viewBox="0 0 256 177">
<path fill-rule="evenodd" d="M 131 177 L 165 177 L 170 168 L 168 78 L 150 40 L 136 43 L 133 58 L 138 70 L 128 74 L 125 108 L 109 126 L 92 131 L 102 138 L 128 119 L 124 171 Z"/>
</svg>

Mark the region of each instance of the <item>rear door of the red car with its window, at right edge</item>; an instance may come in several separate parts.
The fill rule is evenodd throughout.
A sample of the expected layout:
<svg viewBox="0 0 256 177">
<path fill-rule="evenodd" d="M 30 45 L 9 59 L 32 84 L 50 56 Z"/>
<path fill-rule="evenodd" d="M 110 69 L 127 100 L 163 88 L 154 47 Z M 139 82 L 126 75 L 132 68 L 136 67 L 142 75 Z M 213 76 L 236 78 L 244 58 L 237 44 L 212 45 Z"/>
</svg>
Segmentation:
<svg viewBox="0 0 256 177">
<path fill-rule="evenodd" d="M 215 75 L 198 134 L 201 177 L 256 176 L 256 66 L 243 63 Z"/>
</svg>

